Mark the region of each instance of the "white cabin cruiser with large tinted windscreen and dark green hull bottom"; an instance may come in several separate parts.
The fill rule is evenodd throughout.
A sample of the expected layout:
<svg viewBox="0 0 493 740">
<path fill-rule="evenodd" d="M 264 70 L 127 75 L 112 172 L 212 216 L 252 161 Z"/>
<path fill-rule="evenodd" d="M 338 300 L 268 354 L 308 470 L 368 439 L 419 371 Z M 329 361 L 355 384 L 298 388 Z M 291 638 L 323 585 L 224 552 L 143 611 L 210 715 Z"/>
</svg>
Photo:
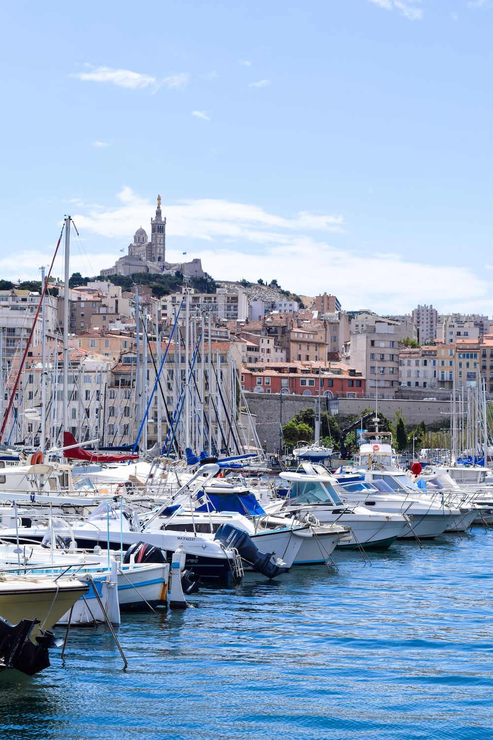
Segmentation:
<svg viewBox="0 0 493 740">
<path fill-rule="evenodd" d="M 402 514 L 370 511 L 342 501 L 327 471 L 323 475 L 315 471 L 280 473 L 279 477 L 289 483 L 288 495 L 281 502 L 271 502 L 266 511 L 298 518 L 311 514 L 321 524 L 349 527 L 350 539 L 339 542 L 339 548 L 387 548 L 407 527 Z"/>
</svg>

